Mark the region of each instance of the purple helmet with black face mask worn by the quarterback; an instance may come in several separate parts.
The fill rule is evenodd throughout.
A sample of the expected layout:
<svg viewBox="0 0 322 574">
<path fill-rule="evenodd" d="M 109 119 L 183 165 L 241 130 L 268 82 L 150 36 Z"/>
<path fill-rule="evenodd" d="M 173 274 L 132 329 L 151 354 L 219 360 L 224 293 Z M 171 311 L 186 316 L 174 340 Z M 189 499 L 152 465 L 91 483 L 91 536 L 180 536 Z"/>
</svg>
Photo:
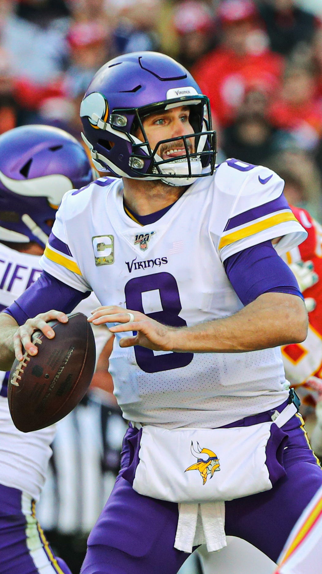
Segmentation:
<svg viewBox="0 0 322 574">
<path fill-rule="evenodd" d="M 194 133 L 158 142 L 150 148 L 142 119 L 158 110 L 189 106 Z M 190 73 L 157 52 L 133 52 L 102 66 L 81 103 L 82 137 L 100 171 L 133 179 L 161 179 L 169 185 L 189 185 L 214 171 L 216 133 L 209 99 Z M 136 137 L 141 129 L 145 141 Z M 195 151 L 189 152 L 189 138 Z M 162 159 L 160 144 L 184 142 L 185 154 Z M 181 143 L 182 146 L 182 143 Z M 191 149 L 191 148 L 190 148 Z"/>
</svg>

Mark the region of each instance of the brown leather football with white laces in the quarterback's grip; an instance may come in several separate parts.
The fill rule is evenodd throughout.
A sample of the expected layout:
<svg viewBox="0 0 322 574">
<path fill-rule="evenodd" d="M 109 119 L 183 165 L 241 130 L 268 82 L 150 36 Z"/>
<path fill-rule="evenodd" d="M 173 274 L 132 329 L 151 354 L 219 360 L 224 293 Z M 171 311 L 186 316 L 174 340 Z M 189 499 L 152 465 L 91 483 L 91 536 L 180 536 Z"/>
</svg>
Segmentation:
<svg viewBox="0 0 322 574">
<path fill-rule="evenodd" d="M 15 359 L 8 381 L 12 420 L 30 432 L 61 420 L 84 397 L 92 381 L 96 348 L 92 327 L 83 313 L 71 313 L 68 323 L 49 321 L 55 336 L 33 333 L 35 356 Z"/>
</svg>

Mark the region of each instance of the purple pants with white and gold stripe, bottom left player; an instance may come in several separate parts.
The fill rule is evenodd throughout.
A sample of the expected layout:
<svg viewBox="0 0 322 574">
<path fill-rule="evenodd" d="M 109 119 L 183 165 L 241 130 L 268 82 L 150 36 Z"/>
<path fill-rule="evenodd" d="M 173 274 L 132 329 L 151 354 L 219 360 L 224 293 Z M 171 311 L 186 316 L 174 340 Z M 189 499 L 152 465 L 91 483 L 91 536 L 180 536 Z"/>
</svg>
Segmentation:
<svg viewBox="0 0 322 574">
<path fill-rule="evenodd" d="M 34 502 L 0 484 L 1 574 L 71 574 L 56 558 L 34 515 Z"/>
</svg>

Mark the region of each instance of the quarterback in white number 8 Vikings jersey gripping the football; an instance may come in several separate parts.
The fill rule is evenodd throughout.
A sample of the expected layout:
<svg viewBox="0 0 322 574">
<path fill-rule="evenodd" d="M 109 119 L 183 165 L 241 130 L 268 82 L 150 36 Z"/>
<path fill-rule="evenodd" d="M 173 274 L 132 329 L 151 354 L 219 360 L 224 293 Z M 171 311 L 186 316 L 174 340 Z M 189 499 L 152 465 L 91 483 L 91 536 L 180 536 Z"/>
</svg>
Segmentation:
<svg viewBox="0 0 322 574">
<path fill-rule="evenodd" d="M 90 321 L 115 334 L 114 393 L 132 422 L 82 573 L 174 574 L 225 533 L 276 561 L 322 484 L 280 351 L 307 336 L 279 256 L 307 234 L 271 170 L 230 159 L 214 171 L 209 100 L 168 56 L 105 64 L 81 117 L 94 165 L 122 179 L 64 196 L 43 273 L 2 313 L 0 342 L 3 366 L 22 344 L 34 356 L 34 329 L 53 337 L 47 321 L 66 322 L 91 290 Z"/>
</svg>

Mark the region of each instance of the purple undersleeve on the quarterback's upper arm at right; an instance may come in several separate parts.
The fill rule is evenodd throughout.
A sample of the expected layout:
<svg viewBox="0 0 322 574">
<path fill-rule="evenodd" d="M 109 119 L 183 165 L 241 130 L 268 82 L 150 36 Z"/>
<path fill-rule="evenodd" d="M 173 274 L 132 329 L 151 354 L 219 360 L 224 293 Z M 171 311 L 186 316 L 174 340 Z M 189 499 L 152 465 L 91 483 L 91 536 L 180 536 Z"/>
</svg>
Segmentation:
<svg viewBox="0 0 322 574">
<path fill-rule="evenodd" d="M 263 293 L 290 293 L 304 298 L 287 263 L 271 241 L 248 247 L 224 262 L 227 277 L 244 305 Z"/>
</svg>

